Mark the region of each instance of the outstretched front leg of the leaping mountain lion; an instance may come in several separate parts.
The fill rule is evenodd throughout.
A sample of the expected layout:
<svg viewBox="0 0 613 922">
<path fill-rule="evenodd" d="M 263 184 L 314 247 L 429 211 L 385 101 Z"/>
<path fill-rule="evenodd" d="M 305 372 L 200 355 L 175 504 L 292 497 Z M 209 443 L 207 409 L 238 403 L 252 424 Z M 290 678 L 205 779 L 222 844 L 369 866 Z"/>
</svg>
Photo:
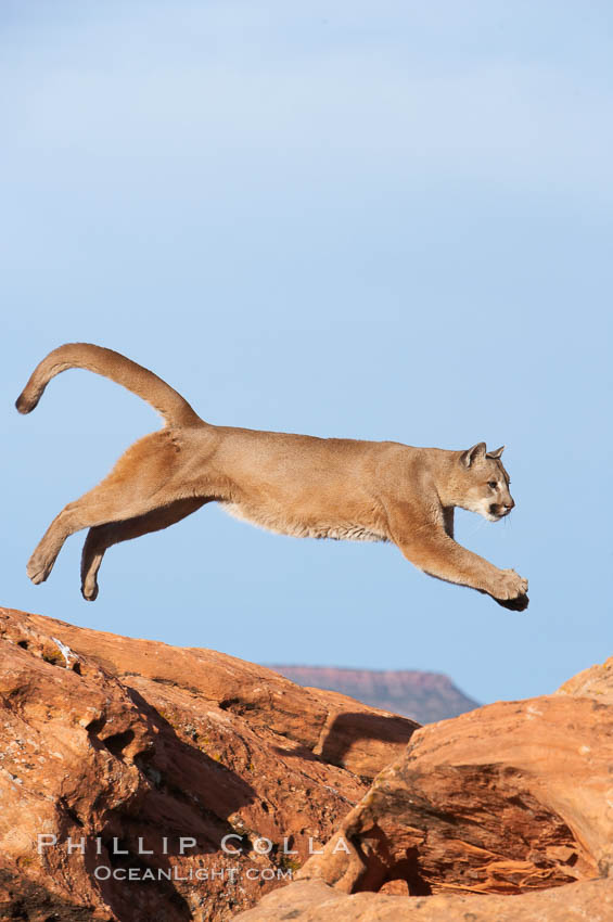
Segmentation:
<svg viewBox="0 0 613 922">
<path fill-rule="evenodd" d="M 411 528 L 408 523 L 404 523 L 404 527 L 396 523 L 392 537 L 407 560 L 430 576 L 486 592 L 507 609 L 519 612 L 527 609 L 527 579 L 514 569 L 498 569 L 462 548 L 443 528 L 424 524 Z"/>
</svg>

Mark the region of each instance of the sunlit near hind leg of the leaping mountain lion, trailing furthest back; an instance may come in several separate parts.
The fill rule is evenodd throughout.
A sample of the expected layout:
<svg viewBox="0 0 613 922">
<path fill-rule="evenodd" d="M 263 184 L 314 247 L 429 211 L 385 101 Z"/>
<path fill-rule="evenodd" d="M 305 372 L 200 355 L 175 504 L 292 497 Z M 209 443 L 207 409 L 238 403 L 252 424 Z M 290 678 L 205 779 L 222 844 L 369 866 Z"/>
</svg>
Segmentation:
<svg viewBox="0 0 613 922">
<path fill-rule="evenodd" d="M 168 503 L 165 485 L 180 464 L 168 430 L 144 436 L 128 448 L 97 487 L 55 516 L 27 565 L 33 582 L 43 582 L 66 538 L 81 528 L 144 515 Z"/>
</svg>

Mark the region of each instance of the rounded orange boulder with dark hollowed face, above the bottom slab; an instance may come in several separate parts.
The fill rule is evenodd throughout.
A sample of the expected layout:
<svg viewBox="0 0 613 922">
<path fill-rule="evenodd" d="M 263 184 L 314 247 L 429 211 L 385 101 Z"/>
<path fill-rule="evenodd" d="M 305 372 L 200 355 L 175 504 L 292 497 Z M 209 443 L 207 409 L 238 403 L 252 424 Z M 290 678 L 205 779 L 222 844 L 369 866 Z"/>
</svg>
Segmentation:
<svg viewBox="0 0 613 922">
<path fill-rule="evenodd" d="M 413 895 L 597 878 L 613 867 L 612 766 L 613 707 L 587 697 L 502 702 L 424 727 L 298 876 Z"/>
</svg>

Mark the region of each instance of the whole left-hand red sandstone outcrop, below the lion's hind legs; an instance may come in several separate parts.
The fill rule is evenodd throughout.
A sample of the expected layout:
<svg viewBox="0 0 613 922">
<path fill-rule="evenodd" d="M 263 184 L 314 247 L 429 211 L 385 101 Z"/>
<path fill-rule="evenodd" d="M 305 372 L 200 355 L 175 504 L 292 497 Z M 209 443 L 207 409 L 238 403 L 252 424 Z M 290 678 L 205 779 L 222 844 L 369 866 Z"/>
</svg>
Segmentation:
<svg viewBox="0 0 613 922">
<path fill-rule="evenodd" d="M 214 651 L 7 609 L 0 644 L 2 920 L 227 920 L 331 836 L 416 727 Z M 39 854 L 39 834 L 56 845 Z"/>
</svg>

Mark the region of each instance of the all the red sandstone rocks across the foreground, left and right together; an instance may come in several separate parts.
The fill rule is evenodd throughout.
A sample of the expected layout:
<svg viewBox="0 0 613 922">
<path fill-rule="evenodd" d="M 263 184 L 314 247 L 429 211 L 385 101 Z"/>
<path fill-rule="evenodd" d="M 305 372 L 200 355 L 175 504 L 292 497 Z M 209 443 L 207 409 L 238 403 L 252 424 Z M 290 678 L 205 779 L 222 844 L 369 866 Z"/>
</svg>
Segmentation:
<svg viewBox="0 0 613 922">
<path fill-rule="evenodd" d="M 420 729 L 8 609 L 0 645 L 2 922 L 613 919 L 613 658 Z"/>
</svg>

